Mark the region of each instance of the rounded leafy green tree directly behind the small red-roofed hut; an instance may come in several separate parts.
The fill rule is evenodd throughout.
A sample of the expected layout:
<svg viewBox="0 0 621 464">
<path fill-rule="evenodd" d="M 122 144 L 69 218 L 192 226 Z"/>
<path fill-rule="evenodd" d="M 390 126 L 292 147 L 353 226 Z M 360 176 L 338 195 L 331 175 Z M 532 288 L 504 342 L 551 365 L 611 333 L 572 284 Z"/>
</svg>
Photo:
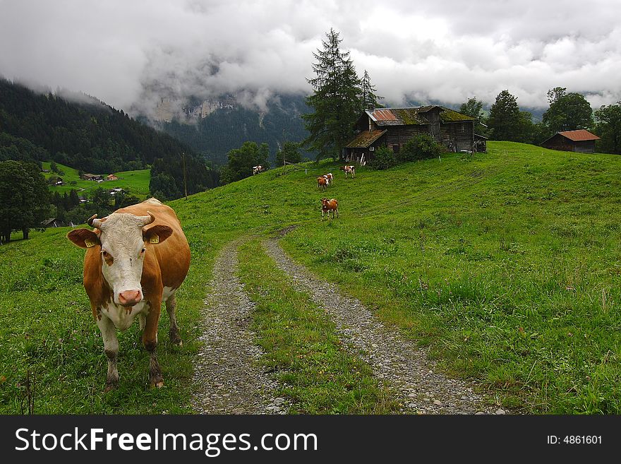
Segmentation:
<svg viewBox="0 0 621 464">
<path fill-rule="evenodd" d="M 543 124 L 550 133 L 589 129 L 593 126 L 593 109 L 584 95 L 567 93 L 564 87 L 548 90 L 550 107 L 543 113 Z"/>
</svg>

